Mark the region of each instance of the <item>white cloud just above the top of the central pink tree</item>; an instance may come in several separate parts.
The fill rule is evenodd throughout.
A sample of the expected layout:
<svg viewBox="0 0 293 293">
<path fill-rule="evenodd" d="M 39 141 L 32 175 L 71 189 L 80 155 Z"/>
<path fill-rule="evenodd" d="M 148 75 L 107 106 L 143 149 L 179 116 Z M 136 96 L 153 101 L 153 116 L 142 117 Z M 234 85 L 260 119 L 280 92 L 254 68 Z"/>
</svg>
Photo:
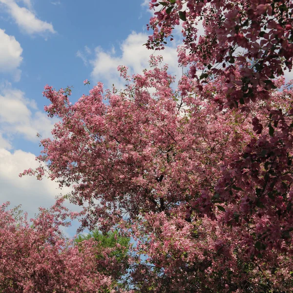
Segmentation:
<svg viewBox="0 0 293 293">
<path fill-rule="evenodd" d="M 123 86 L 123 81 L 117 71 L 118 65 L 125 65 L 129 67 L 130 74 L 142 73 L 143 69 L 149 68 L 148 60 L 152 53 L 155 55 L 162 55 L 164 63 L 169 65 L 169 72 L 172 75 L 181 77 L 182 70 L 178 68 L 176 47 L 166 46 L 166 49 L 160 52 L 147 50 L 143 44 L 147 41 L 147 34 L 132 32 L 127 39 L 122 42 L 121 56 L 115 56 L 115 50 L 112 52 L 105 52 L 101 47 L 95 49 L 95 59 L 90 61 L 93 66 L 91 73 L 94 82 L 106 80 L 105 84 L 110 87 L 115 84 L 120 88 Z M 175 45 L 175 43 L 174 43 Z"/>
</svg>

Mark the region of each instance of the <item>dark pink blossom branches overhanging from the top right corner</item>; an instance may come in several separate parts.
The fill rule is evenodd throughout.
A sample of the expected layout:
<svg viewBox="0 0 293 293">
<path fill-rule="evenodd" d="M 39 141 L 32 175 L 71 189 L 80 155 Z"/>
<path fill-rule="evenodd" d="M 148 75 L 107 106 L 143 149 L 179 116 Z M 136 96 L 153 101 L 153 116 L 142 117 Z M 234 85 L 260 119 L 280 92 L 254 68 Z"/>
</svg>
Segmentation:
<svg viewBox="0 0 293 293">
<path fill-rule="evenodd" d="M 223 76 L 230 107 L 267 97 L 275 87 L 273 79 L 292 69 L 291 0 L 151 0 L 149 6 L 156 12 L 147 27 L 153 30 L 147 47 L 164 49 L 182 23 L 179 63 L 190 65 L 189 74 L 199 85 L 209 76 Z M 197 70 L 202 71 L 199 76 Z"/>
</svg>

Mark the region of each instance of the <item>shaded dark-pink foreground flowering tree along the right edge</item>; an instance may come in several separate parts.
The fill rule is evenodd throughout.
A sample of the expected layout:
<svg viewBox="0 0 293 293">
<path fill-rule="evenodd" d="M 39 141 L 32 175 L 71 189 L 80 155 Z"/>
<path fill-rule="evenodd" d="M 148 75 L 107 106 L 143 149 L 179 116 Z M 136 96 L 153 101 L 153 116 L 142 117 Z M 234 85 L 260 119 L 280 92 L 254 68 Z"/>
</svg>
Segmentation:
<svg viewBox="0 0 293 293">
<path fill-rule="evenodd" d="M 150 8 L 155 7 L 159 11 L 150 21 L 154 33 L 147 46 L 163 49 L 174 26 L 183 21 L 179 64 L 190 66 L 188 76 L 199 91 L 210 78 L 223 79 L 221 96 L 212 95 L 219 110 L 253 111 L 255 101 L 269 99 L 272 90 L 279 88 L 275 77 L 292 69 L 292 1 L 151 0 Z M 197 36 L 199 21 L 205 31 L 201 36 Z M 200 76 L 198 70 L 202 70 Z M 254 111 L 253 131 L 262 135 L 252 138 L 241 153 L 234 152 L 213 190 L 221 202 L 240 204 L 243 215 L 248 215 L 244 220 L 254 212 L 267 217 L 266 225 L 259 228 L 261 242 L 292 239 L 291 84 L 278 93 L 287 100 L 286 106 L 271 104 L 266 118 Z M 246 195 L 239 197 L 239 191 Z"/>
</svg>

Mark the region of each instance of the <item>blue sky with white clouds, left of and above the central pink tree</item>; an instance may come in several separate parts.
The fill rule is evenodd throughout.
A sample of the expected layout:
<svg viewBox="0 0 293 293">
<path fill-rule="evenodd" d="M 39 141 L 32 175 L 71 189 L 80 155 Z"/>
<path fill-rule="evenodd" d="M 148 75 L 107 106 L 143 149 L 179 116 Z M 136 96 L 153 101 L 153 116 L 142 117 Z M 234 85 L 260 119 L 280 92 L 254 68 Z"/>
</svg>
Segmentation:
<svg viewBox="0 0 293 293">
<path fill-rule="evenodd" d="M 73 86 L 72 102 L 101 81 L 123 87 L 116 70 L 129 66 L 141 73 L 152 53 L 146 23 L 147 0 L 0 0 L 0 202 L 22 204 L 30 216 L 39 206 L 54 203 L 57 184 L 48 179 L 19 178 L 37 167 L 39 139 L 50 136 L 54 120 L 43 111 L 48 104 L 43 86 Z M 163 52 L 173 74 L 176 44 Z M 55 120 L 56 122 L 56 120 Z"/>
</svg>

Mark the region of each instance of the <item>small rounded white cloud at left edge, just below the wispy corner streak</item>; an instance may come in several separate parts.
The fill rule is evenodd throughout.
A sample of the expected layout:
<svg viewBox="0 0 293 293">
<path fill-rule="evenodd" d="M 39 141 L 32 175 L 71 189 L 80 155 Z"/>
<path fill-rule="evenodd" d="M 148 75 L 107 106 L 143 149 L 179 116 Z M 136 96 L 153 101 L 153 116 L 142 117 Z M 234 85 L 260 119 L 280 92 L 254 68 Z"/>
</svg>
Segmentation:
<svg viewBox="0 0 293 293">
<path fill-rule="evenodd" d="M 21 70 L 18 69 L 22 62 L 21 44 L 15 40 L 15 37 L 9 36 L 5 30 L 0 29 L 0 72 L 12 73 L 15 79 L 20 79 Z"/>
</svg>

